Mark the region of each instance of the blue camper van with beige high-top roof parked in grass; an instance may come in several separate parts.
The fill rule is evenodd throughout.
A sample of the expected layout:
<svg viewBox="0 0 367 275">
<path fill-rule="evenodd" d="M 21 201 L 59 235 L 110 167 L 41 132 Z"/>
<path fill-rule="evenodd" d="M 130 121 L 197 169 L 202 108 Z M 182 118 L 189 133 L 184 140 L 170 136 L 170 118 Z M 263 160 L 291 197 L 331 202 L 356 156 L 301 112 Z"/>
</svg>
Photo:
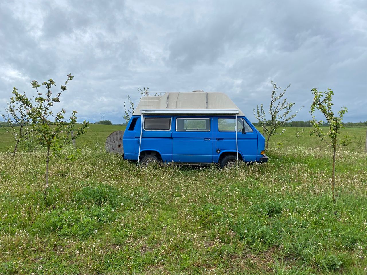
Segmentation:
<svg viewBox="0 0 367 275">
<path fill-rule="evenodd" d="M 266 162 L 265 138 L 220 92 L 143 96 L 123 135 L 123 157 L 139 165 Z"/>
</svg>

